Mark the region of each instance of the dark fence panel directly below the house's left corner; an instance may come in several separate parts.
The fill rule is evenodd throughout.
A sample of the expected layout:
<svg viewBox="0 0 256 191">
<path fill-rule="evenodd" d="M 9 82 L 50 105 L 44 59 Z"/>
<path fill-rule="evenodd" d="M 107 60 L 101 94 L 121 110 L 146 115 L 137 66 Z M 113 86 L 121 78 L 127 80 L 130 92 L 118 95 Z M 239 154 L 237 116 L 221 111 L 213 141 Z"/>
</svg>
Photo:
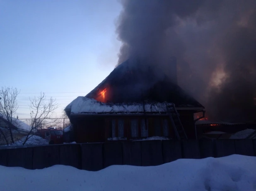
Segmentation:
<svg viewBox="0 0 256 191">
<path fill-rule="evenodd" d="M 60 165 L 82 168 L 80 144 L 60 145 Z"/>
</svg>

